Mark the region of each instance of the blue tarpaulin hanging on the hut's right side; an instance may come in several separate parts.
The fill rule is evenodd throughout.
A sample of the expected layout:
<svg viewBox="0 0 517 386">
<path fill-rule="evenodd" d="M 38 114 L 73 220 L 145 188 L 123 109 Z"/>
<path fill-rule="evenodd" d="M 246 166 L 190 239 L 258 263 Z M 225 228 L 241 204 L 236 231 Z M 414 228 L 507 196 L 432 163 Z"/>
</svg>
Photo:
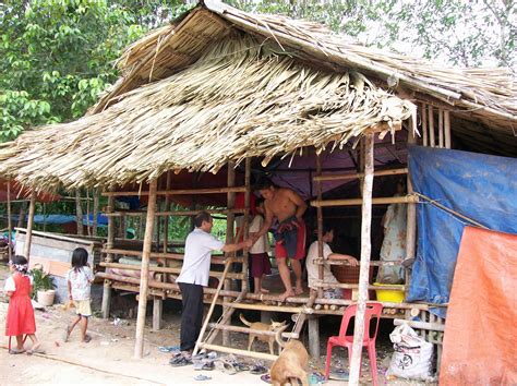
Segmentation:
<svg viewBox="0 0 517 386">
<path fill-rule="evenodd" d="M 409 170 L 416 192 L 489 229 L 517 233 L 516 158 L 411 146 Z M 446 303 L 464 227 L 471 224 L 424 201 L 417 225 L 407 300 Z"/>
</svg>

